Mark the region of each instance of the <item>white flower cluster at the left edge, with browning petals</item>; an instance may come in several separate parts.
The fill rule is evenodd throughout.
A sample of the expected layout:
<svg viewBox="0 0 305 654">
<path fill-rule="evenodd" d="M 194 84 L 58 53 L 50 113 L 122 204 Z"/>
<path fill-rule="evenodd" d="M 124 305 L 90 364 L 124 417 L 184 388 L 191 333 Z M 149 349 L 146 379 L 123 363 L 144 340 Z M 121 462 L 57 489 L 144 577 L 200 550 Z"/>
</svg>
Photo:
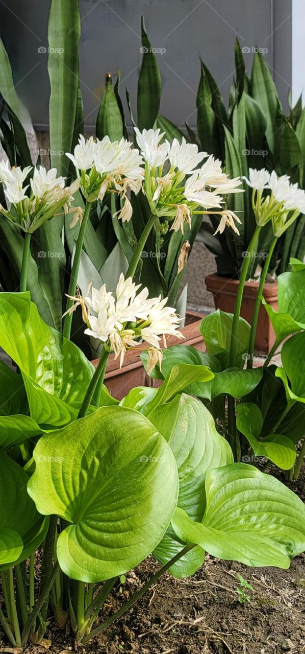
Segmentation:
<svg viewBox="0 0 305 654">
<path fill-rule="evenodd" d="M 0 213 L 10 222 L 24 232 L 34 232 L 62 207 L 66 213 L 81 213 L 79 207 L 71 208 L 72 193 L 78 182 L 65 188 L 65 177 L 56 177 L 56 168 L 47 171 L 40 165 L 34 167 L 33 177 L 25 184 L 32 169 L 32 166 L 10 168 L 8 162 L 0 162 L 0 182 L 8 203 L 8 211 L 0 205 Z"/>
</svg>

